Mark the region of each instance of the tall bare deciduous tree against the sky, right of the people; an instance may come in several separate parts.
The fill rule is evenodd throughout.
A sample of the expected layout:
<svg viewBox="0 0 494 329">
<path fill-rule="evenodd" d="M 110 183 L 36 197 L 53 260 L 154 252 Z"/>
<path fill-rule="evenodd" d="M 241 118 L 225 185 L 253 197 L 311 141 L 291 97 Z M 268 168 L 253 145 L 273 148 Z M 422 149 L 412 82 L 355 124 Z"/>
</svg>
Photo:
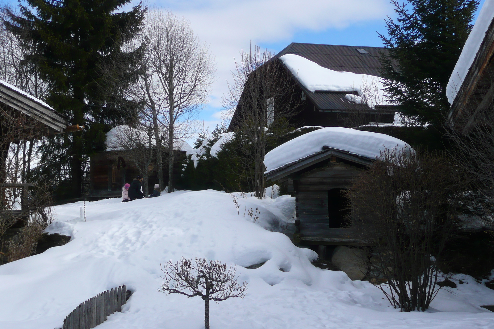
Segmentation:
<svg viewBox="0 0 494 329">
<path fill-rule="evenodd" d="M 144 37 L 146 100 L 156 139 L 158 125 L 165 125 L 168 130 L 168 191 L 171 192 L 174 143 L 189 133 L 190 127 L 184 122 L 190 122 L 206 103 L 215 69 L 207 45 L 194 35 L 184 17 L 179 18 L 171 11 L 150 10 Z M 161 152 L 158 157 L 160 162 Z M 159 177 L 162 184 L 163 174 Z"/>
</svg>

